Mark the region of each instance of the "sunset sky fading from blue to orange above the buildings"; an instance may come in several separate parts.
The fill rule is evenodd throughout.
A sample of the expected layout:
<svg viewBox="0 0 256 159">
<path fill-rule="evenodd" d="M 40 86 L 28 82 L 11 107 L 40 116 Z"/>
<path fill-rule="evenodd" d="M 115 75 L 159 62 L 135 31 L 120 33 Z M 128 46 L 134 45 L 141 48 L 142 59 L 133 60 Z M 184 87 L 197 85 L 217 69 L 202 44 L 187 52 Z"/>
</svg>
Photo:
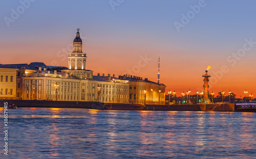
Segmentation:
<svg viewBox="0 0 256 159">
<path fill-rule="evenodd" d="M 94 75 L 125 73 L 157 82 L 160 56 L 160 83 L 166 92 L 180 96 L 190 89 L 196 94 L 209 65 L 209 92 L 231 90 L 243 97 L 246 89 L 247 96 L 256 96 L 255 1 L 1 3 L 0 64 L 67 67 L 66 52 L 79 28 L 87 69 Z"/>
</svg>

